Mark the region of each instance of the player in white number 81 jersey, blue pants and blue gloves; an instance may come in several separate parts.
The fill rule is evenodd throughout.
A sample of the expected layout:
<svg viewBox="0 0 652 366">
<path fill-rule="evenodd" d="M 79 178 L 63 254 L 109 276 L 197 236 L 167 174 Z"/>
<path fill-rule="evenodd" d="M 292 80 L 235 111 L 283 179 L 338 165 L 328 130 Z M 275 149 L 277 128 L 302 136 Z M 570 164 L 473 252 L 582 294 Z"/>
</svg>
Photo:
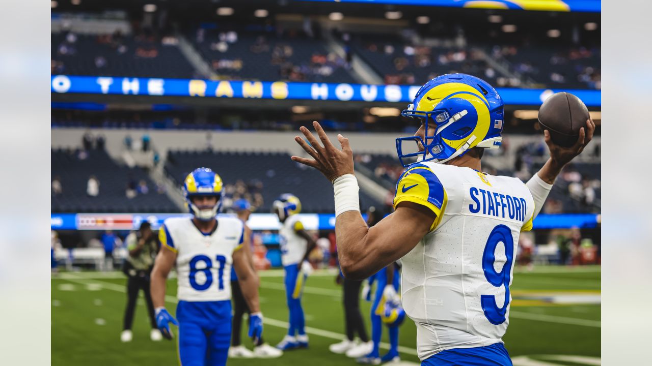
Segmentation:
<svg viewBox="0 0 652 366">
<path fill-rule="evenodd" d="M 258 301 L 258 276 L 243 249 L 248 246 L 244 223 L 216 216 L 222 179 L 211 169 L 190 173 L 183 186 L 192 218 L 166 219 L 158 238 L 151 293 L 156 323 L 164 337 L 173 337 L 170 323 L 179 326 L 179 361 L 183 366 L 226 365 L 231 343 L 231 266 L 251 310 L 249 336 L 256 343 L 263 332 Z M 177 319 L 165 308 L 166 279 L 177 269 Z"/>
</svg>

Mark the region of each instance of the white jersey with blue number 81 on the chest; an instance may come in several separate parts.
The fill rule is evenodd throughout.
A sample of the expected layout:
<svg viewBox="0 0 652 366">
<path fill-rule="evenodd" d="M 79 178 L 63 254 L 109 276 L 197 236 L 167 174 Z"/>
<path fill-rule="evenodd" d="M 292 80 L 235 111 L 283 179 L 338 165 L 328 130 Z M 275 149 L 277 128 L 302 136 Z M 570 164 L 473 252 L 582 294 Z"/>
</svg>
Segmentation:
<svg viewBox="0 0 652 366">
<path fill-rule="evenodd" d="M 211 234 L 190 218 L 166 219 L 158 238 L 177 253 L 177 298 L 189 302 L 231 299 L 233 252 L 242 247 L 244 225 L 237 218 L 217 218 Z"/>
</svg>

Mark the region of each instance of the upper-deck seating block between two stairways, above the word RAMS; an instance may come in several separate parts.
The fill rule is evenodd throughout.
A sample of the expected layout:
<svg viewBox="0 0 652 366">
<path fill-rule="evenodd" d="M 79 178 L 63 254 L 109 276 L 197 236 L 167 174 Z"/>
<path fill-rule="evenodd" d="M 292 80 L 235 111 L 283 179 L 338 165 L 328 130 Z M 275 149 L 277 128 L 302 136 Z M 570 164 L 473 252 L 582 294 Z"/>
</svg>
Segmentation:
<svg viewBox="0 0 652 366">
<path fill-rule="evenodd" d="M 355 83 L 344 60 L 329 53 L 316 38 L 300 33 L 200 31 L 202 37 L 195 32 L 188 38 L 220 78 Z"/>
</svg>

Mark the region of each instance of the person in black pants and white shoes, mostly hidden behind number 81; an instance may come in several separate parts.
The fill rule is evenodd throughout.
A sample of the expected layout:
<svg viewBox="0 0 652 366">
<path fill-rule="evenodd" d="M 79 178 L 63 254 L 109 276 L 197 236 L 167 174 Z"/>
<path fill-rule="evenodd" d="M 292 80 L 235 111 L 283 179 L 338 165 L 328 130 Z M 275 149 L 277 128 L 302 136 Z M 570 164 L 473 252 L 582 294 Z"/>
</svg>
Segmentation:
<svg viewBox="0 0 652 366">
<path fill-rule="evenodd" d="M 252 230 L 246 225 L 246 221 L 251 215 L 251 205 L 246 199 L 239 199 L 231 206 L 235 210 L 237 218 L 244 224 L 244 237 L 248 238 L 248 246 L 243 246 L 243 253 L 246 254 L 246 259 L 253 272 L 256 272 L 254 266 L 254 257 L 251 252 L 253 246 L 254 236 Z M 233 322 L 231 331 L 231 348 L 229 348 L 230 358 L 276 358 L 283 355 L 283 351 L 273 346 L 267 345 L 261 336 L 258 343 L 254 346 L 254 352 L 248 350 L 241 343 L 241 329 L 243 324 L 244 313 L 251 314 L 249 307 L 244 299 L 243 292 L 240 289 L 237 273 L 235 267 L 231 267 L 231 300 L 233 300 Z"/>
</svg>

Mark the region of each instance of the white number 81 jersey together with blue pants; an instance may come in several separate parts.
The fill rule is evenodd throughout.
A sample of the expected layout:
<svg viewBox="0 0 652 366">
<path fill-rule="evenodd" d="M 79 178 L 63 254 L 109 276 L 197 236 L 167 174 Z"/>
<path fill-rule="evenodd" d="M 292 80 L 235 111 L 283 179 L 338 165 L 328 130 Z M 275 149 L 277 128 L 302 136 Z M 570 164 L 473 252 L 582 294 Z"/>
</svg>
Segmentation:
<svg viewBox="0 0 652 366">
<path fill-rule="evenodd" d="M 190 218 L 170 218 L 162 246 L 177 253 L 179 359 L 183 366 L 224 365 L 231 339 L 231 266 L 244 241 L 237 218 L 218 216 L 205 234 Z"/>
</svg>

